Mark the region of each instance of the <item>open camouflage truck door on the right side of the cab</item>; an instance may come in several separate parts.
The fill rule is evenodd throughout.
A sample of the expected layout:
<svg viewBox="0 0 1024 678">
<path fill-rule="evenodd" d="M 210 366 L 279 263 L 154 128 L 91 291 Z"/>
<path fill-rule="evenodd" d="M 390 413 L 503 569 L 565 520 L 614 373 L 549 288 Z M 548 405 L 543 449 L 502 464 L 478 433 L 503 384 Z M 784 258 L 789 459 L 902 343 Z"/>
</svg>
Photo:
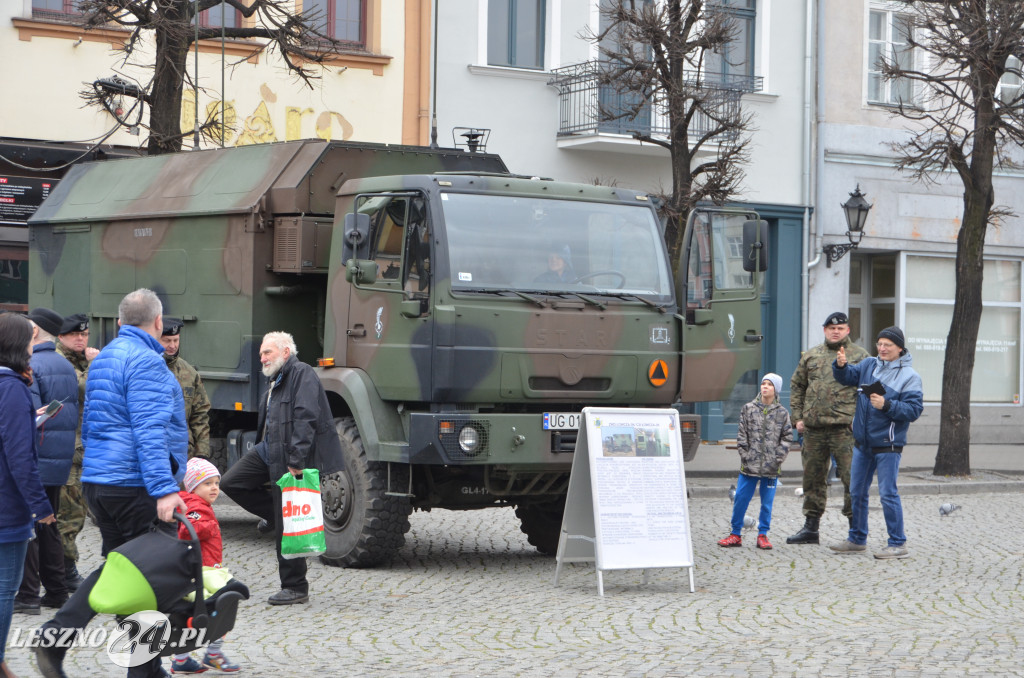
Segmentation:
<svg viewBox="0 0 1024 678">
<path fill-rule="evenodd" d="M 758 215 L 705 209 L 690 214 L 677 282 L 682 402 L 728 399 L 744 374 L 761 368 L 763 273 L 743 267 L 743 223 L 752 219 Z"/>
</svg>

